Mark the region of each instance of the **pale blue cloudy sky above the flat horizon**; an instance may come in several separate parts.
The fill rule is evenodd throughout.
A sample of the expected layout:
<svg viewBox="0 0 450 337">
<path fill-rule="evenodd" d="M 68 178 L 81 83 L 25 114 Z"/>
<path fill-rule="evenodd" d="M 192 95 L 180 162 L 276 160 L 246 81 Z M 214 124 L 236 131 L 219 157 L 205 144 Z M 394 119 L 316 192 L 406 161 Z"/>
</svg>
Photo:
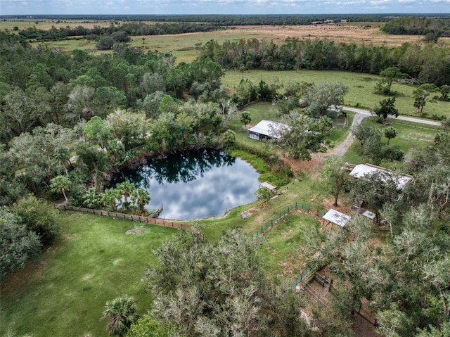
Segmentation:
<svg viewBox="0 0 450 337">
<path fill-rule="evenodd" d="M 450 13 L 450 0 L 0 0 L 0 15 Z"/>
</svg>

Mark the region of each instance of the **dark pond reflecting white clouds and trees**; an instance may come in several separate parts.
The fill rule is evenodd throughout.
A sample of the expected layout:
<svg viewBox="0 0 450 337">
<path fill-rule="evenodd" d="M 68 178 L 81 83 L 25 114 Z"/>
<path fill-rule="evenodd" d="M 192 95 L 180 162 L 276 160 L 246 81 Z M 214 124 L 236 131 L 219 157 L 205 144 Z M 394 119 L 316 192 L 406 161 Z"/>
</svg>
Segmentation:
<svg viewBox="0 0 450 337">
<path fill-rule="evenodd" d="M 256 200 L 259 173 L 245 160 L 222 151 L 177 153 L 115 174 L 111 186 L 128 180 L 150 192 L 148 210 L 160 217 L 193 220 L 224 215 Z"/>
</svg>

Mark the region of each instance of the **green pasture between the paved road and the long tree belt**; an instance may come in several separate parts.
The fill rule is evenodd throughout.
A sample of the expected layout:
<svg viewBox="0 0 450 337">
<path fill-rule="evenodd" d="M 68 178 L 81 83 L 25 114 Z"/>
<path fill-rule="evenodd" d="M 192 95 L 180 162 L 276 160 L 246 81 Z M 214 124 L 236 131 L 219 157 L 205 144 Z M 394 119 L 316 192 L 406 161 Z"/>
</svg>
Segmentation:
<svg viewBox="0 0 450 337">
<path fill-rule="evenodd" d="M 290 70 L 290 71 L 266 71 L 266 70 L 250 70 L 244 73 L 238 71 L 227 71 L 222 78 L 225 87 L 236 88 L 243 78 L 248 78 L 253 83 L 258 84 L 259 81 L 270 84 L 274 81 L 283 84 L 290 82 L 310 82 L 319 84 L 321 82 L 342 82 L 349 87 L 349 92 L 345 95 L 345 105 L 360 108 L 371 109 L 381 100 L 389 98 L 374 94 L 375 84 L 380 80 L 378 75 L 363 74 L 361 72 L 345 72 L 341 70 Z M 408 84 L 392 84 L 392 90 L 398 91 L 399 96 L 396 98 L 395 106 L 399 109 L 400 115 L 410 115 L 419 117 L 414 108 L 413 91 L 416 87 Z M 430 96 L 434 96 L 431 94 Z M 432 115 L 446 116 L 450 114 L 450 102 L 428 101 L 424 113 L 429 117 Z"/>
</svg>

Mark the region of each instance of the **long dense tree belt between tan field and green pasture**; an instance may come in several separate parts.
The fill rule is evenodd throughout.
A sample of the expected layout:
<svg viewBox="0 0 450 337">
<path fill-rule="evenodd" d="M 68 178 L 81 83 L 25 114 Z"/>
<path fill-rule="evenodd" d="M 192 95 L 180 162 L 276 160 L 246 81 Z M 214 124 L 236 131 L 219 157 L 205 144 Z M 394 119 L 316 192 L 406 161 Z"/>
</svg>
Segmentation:
<svg viewBox="0 0 450 337">
<path fill-rule="evenodd" d="M 199 45 L 200 56 L 233 70 L 347 70 L 379 74 L 397 67 L 419 83 L 450 83 L 450 49 L 436 44 L 401 46 L 345 44 L 331 40 L 288 37 L 283 44 L 240 39 Z"/>
</svg>

